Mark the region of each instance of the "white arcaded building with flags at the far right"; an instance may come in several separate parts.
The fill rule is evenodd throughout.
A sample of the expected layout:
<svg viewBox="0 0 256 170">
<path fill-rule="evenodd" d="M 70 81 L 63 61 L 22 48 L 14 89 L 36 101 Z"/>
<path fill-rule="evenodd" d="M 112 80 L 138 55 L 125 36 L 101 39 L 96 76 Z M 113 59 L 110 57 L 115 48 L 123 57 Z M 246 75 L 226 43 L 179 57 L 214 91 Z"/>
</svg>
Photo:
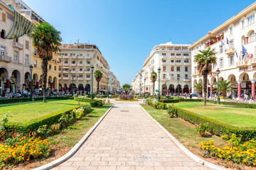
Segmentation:
<svg viewBox="0 0 256 170">
<path fill-rule="evenodd" d="M 218 52 L 216 55 L 218 63 L 213 65 L 213 75 L 208 75 L 208 94 L 212 94 L 213 87 L 217 86 L 216 69 L 219 68 L 219 80 L 232 81 L 234 84 L 234 90 L 228 95 L 240 98 L 243 94 L 252 94 L 255 98 L 255 8 L 256 3 L 248 6 L 188 47 L 192 50 L 192 61 L 193 56 L 198 54 L 198 50 L 206 50 L 210 47 Z M 192 62 L 192 69 L 193 84 L 203 83 L 202 76 L 196 70 L 195 62 Z M 193 89 L 193 92 L 197 91 Z"/>
</svg>

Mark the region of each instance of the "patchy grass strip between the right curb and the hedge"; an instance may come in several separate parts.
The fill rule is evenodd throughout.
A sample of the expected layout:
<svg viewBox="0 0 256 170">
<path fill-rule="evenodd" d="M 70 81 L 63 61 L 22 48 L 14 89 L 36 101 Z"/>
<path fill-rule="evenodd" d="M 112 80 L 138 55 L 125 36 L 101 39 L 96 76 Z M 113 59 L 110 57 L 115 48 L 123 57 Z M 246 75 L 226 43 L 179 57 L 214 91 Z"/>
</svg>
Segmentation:
<svg viewBox="0 0 256 170">
<path fill-rule="evenodd" d="M 181 118 L 170 118 L 166 110 L 159 110 L 146 104 L 141 105 L 152 118 L 164 126 L 171 135 L 174 135 L 174 137 L 186 147 L 199 147 L 200 143 L 206 140 L 214 140 L 218 143 L 223 143 L 220 137 L 216 137 L 215 135 L 207 134 L 207 137 L 199 137 L 195 125 Z"/>
</svg>

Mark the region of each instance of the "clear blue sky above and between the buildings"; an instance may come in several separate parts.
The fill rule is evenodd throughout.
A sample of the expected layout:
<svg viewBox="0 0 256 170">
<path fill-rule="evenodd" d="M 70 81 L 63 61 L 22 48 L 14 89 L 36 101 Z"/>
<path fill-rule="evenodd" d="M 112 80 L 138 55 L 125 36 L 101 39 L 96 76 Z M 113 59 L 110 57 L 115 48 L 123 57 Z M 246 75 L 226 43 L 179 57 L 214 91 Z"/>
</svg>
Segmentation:
<svg viewBox="0 0 256 170">
<path fill-rule="evenodd" d="M 131 84 L 154 45 L 191 43 L 252 0 L 23 0 L 65 43 L 97 45 L 121 86 Z"/>
</svg>

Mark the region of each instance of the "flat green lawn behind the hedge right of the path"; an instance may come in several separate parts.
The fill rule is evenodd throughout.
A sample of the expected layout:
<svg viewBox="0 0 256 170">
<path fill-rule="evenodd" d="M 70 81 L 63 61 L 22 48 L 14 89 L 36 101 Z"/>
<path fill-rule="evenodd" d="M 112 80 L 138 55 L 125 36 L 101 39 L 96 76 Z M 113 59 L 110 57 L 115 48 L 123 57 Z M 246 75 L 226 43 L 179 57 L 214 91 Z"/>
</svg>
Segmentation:
<svg viewBox="0 0 256 170">
<path fill-rule="evenodd" d="M 256 109 L 253 108 L 238 108 L 212 103 L 204 106 L 203 102 L 181 102 L 174 103 L 174 106 L 230 125 L 256 127 Z"/>
</svg>

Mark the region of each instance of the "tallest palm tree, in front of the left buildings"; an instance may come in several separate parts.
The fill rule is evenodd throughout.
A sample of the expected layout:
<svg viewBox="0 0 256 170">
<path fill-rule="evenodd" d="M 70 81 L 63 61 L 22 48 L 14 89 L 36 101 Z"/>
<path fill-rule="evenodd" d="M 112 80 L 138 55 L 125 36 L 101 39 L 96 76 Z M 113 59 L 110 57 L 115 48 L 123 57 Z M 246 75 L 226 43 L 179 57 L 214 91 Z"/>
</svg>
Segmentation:
<svg viewBox="0 0 256 170">
<path fill-rule="evenodd" d="M 60 31 L 55 30 L 49 23 L 41 23 L 33 28 L 29 35 L 33 40 L 33 46 L 36 47 L 38 56 L 43 60 L 43 102 L 46 102 L 46 81 L 48 73 L 48 61 L 53 58 L 53 52 L 60 51 Z"/>
</svg>

